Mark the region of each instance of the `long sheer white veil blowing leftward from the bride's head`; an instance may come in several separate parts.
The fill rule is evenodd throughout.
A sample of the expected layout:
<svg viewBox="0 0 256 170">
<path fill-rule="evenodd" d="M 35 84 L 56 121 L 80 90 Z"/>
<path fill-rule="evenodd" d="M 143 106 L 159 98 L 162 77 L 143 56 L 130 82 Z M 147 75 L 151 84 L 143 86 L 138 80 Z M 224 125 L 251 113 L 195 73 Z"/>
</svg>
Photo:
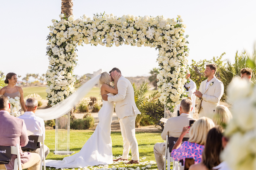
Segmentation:
<svg viewBox="0 0 256 170">
<path fill-rule="evenodd" d="M 83 97 L 99 82 L 101 75 L 95 76 L 88 82 L 81 85 L 76 92 L 72 93 L 65 100 L 48 108 L 37 110 L 35 115 L 41 117 L 44 121 L 57 119 L 69 112 Z"/>
</svg>

